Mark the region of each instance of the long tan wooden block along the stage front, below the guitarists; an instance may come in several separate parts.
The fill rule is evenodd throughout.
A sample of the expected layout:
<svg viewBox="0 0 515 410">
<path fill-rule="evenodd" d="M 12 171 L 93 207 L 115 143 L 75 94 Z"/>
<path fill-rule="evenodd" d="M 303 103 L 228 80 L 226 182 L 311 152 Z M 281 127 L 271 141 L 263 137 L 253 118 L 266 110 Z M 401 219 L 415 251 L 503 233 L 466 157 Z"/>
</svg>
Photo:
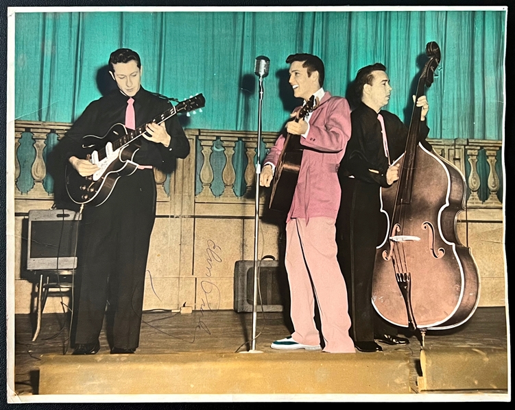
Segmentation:
<svg viewBox="0 0 515 410">
<path fill-rule="evenodd" d="M 408 353 L 48 355 L 39 394 L 405 394 Z"/>
</svg>

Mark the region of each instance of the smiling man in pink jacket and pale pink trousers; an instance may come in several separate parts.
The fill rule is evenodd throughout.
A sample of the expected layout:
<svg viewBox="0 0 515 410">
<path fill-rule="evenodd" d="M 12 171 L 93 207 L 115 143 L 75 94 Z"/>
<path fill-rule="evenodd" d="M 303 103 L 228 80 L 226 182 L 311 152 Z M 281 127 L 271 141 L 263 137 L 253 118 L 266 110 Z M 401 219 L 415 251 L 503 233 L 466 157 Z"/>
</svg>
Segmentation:
<svg viewBox="0 0 515 410">
<path fill-rule="evenodd" d="M 287 123 L 286 131 L 300 135 L 304 146 L 293 203 L 286 223 L 285 266 L 295 331 L 271 347 L 280 350 L 320 350 L 315 326 L 315 298 L 320 310 L 324 351 L 354 353 L 349 336 L 347 291 L 337 261 L 335 220 L 339 209 L 339 162 L 350 138 L 350 108 L 346 99 L 322 88 L 324 63 L 311 54 L 289 55 L 289 84 L 295 97 L 315 96 L 315 107 L 304 119 Z M 292 118 L 296 117 L 298 107 Z M 270 186 L 285 137 L 280 136 L 265 158 L 259 184 Z"/>
</svg>

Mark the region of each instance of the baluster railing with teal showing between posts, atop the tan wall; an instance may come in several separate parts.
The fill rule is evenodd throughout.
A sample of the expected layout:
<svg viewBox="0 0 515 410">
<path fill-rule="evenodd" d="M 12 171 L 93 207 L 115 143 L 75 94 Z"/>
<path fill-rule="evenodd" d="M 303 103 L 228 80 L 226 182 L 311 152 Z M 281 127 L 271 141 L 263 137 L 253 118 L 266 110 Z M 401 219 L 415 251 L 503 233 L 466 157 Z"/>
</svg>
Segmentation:
<svg viewBox="0 0 515 410">
<path fill-rule="evenodd" d="M 58 140 L 70 127 L 67 123 L 16 121 L 16 198 L 50 199 L 53 178 L 47 172 L 47 159 Z M 253 203 L 256 133 L 187 129 L 195 155 L 195 201 L 203 203 Z M 264 158 L 278 134 L 263 133 Z M 501 141 L 430 139 L 435 152 L 453 162 L 466 176 L 467 206 L 502 207 L 503 172 Z M 170 196 L 170 177 L 154 170 L 158 201 Z"/>
</svg>

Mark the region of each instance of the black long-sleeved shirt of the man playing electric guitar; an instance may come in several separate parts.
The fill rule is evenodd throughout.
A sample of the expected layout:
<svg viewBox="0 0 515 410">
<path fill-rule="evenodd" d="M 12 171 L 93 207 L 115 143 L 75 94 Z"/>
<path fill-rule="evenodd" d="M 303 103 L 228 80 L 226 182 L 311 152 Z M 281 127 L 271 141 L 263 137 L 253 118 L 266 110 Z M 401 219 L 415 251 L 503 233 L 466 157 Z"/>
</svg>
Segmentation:
<svg viewBox="0 0 515 410">
<path fill-rule="evenodd" d="M 132 98 L 134 99 L 136 127 L 149 123 L 152 118 L 171 107 L 169 101 L 157 97 L 143 87 Z M 84 158 L 82 137 L 87 135 L 104 136 L 112 125 L 116 123 L 124 124 L 128 99 L 129 97 L 117 89 L 90 103 L 62 140 L 64 159 L 68 160 L 73 155 Z M 171 137 L 169 146 L 149 142 L 141 136 L 138 138 L 138 141 L 141 142 L 141 148 L 136 151 L 134 162 L 155 166 L 163 172 L 171 172 L 176 157 L 187 157 L 189 142 L 177 116 L 172 116 L 166 120 L 165 125 Z"/>
</svg>

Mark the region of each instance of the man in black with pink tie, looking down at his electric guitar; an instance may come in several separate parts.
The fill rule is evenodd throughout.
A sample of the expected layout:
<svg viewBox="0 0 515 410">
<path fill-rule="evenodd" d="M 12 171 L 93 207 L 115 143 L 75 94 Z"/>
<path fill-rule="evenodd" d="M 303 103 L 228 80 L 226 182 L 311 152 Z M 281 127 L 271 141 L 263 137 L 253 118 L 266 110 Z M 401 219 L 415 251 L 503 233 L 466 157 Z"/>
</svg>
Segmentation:
<svg viewBox="0 0 515 410">
<path fill-rule="evenodd" d="M 139 165 L 136 170 L 117 179 L 104 203 L 84 209 L 77 269 L 80 295 L 73 312 L 73 355 L 92 355 L 99 350 L 106 304 L 111 313 L 111 353 L 134 353 L 138 348 L 145 269 L 156 216 L 152 168 L 171 172 L 175 159 L 189 154 L 189 142 L 176 116 L 160 125 L 148 123 L 171 105 L 141 86 L 143 67 L 139 55 L 130 49 L 114 51 L 109 70 L 118 88 L 93 101 L 75 121 L 62 139 L 65 160 L 82 177 L 88 177 L 99 168 L 86 159 L 89 152 L 82 147 L 84 136 L 106 136 L 117 123 L 128 129 L 147 123 L 146 134 L 131 142 L 141 144 L 132 157 Z"/>
</svg>

